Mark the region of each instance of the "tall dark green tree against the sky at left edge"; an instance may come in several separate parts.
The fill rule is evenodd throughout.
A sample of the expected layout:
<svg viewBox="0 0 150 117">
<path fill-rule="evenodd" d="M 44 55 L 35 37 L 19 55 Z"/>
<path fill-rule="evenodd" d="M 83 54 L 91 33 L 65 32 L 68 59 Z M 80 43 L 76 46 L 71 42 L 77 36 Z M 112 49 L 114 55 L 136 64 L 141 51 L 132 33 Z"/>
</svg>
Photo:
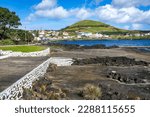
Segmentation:
<svg viewBox="0 0 150 117">
<path fill-rule="evenodd" d="M 6 31 L 11 28 L 18 28 L 21 25 L 20 18 L 15 12 L 9 11 L 7 8 L 0 7 L 0 40 L 6 38 Z"/>
</svg>

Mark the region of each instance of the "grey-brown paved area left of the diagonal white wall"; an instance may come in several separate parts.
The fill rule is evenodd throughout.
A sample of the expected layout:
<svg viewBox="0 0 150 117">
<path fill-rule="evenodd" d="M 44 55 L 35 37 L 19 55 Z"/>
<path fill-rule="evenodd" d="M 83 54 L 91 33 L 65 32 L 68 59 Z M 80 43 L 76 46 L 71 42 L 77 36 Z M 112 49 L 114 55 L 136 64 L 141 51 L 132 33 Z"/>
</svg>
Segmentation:
<svg viewBox="0 0 150 117">
<path fill-rule="evenodd" d="M 49 57 L 13 57 L 0 60 L 0 92 L 48 58 Z"/>
</svg>

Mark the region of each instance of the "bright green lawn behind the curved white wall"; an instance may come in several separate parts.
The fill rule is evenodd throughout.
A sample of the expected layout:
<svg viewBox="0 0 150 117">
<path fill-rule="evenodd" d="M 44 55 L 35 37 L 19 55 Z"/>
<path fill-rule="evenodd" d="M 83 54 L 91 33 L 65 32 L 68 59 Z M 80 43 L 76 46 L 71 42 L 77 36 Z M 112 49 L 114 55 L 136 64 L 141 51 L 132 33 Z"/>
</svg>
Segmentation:
<svg viewBox="0 0 150 117">
<path fill-rule="evenodd" d="M 36 52 L 46 49 L 44 46 L 0 46 L 0 50 L 11 50 L 15 52 Z"/>
</svg>

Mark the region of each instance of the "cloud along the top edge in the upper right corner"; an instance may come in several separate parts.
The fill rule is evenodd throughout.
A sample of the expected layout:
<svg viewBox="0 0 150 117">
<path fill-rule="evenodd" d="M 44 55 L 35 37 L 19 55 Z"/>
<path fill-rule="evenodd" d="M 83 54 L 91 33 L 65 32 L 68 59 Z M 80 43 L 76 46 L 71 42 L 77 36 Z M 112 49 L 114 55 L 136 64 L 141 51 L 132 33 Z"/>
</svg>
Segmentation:
<svg viewBox="0 0 150 117">
<path fill-rule="evenodd" d="M 116 7 L 148 6 L 150 0 L 112 0 L 112 4 Z"/>
</svg>

